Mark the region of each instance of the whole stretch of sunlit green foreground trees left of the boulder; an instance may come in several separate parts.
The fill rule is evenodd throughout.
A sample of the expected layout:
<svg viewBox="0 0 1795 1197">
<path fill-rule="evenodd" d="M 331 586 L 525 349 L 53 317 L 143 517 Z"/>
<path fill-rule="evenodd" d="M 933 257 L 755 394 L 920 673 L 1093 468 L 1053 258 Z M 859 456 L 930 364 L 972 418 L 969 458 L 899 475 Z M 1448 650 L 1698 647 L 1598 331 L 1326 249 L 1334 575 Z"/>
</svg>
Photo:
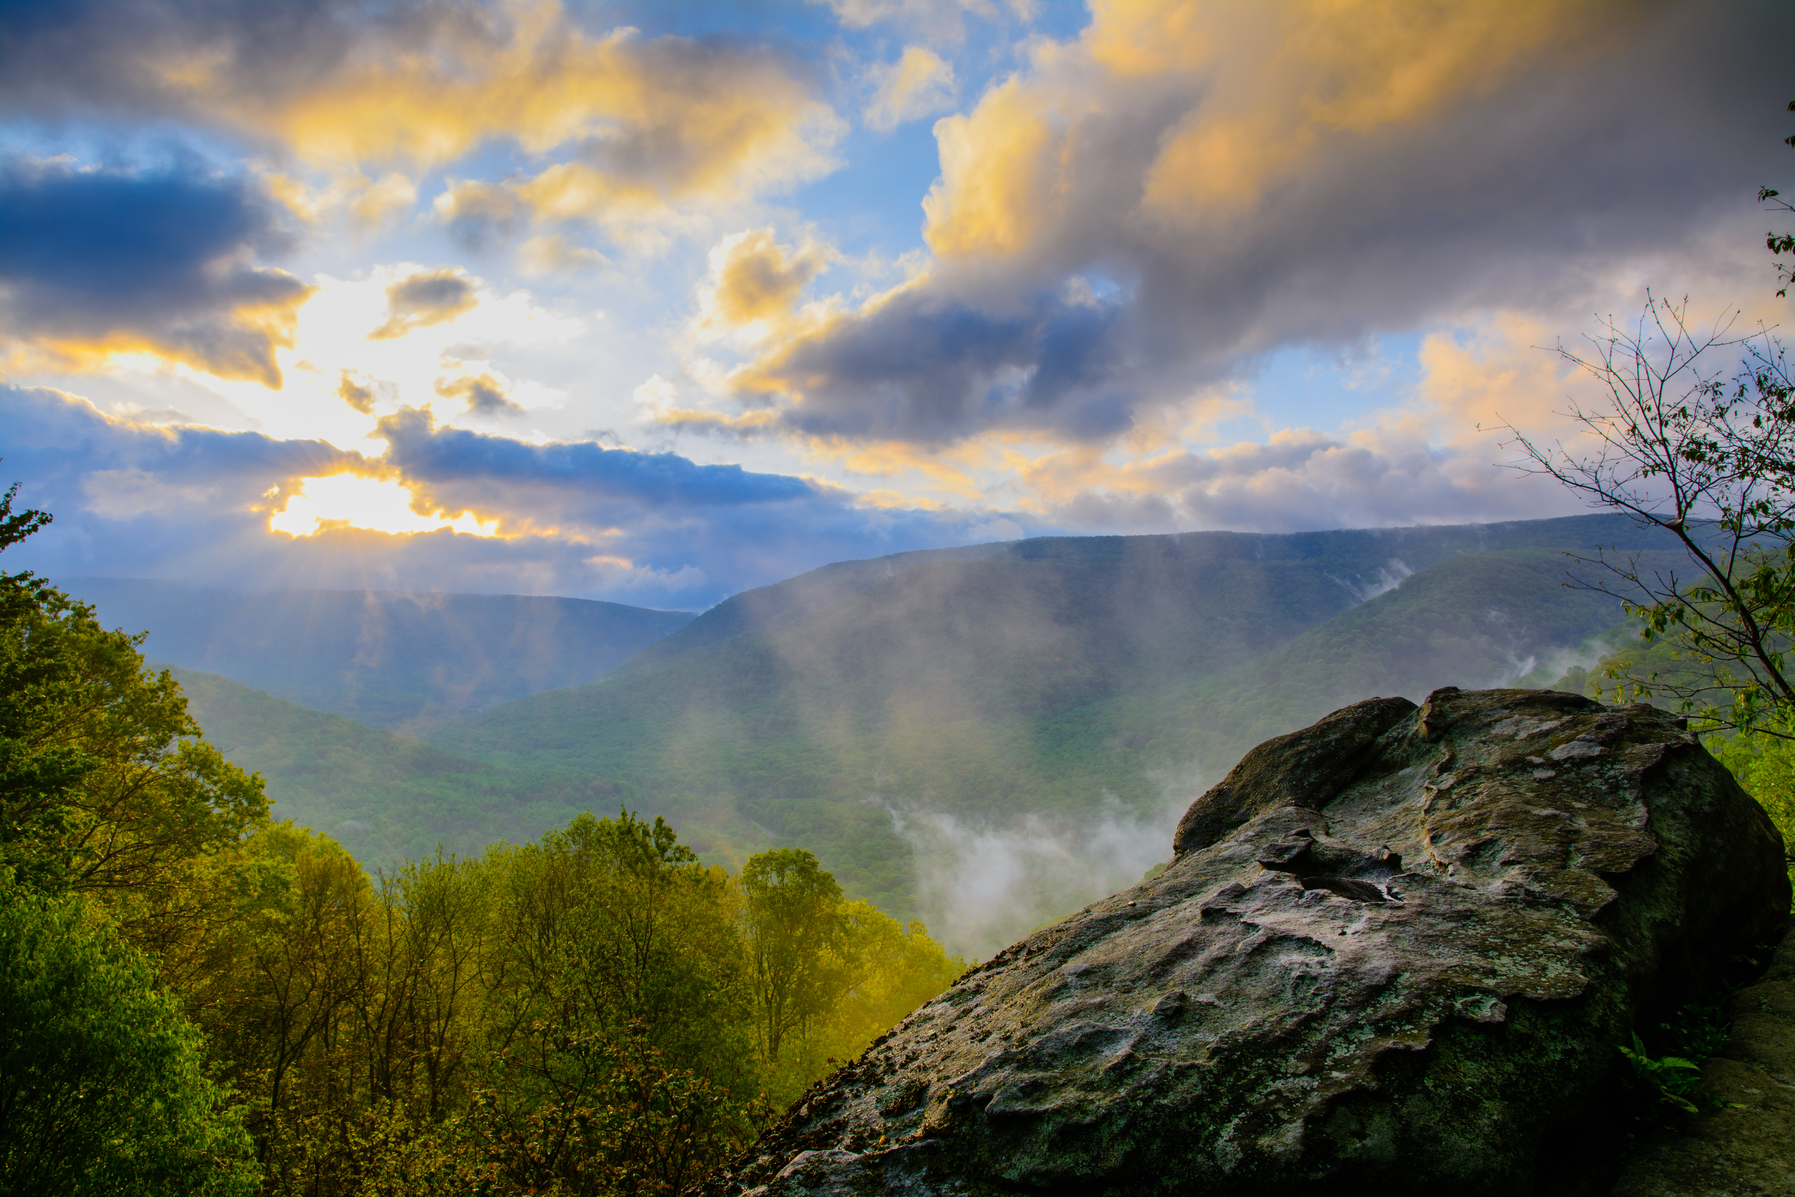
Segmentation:
<svg viewBox="0 0 1795 1197">
<path fill-rule="evenodd" d="M 0 549 L 48 522 L 14 494 Z M 0 1193 L 671 1197 L 964 967 L 802 849 L 628 813 L 370 878 L 138 639 L 0 574 Z M 499 784 L 194 680 L 293 777 Z"/>
</svg>

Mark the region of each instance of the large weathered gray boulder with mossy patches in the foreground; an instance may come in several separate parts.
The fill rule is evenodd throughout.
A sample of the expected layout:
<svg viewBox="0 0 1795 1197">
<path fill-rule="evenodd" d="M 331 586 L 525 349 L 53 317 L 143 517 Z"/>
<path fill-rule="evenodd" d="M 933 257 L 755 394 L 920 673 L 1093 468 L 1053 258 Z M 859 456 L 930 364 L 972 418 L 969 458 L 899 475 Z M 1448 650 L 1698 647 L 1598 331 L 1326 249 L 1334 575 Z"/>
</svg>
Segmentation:
<svg viewBox="0 0 1795 1197">
<path fill-rule="evenodd" d="M 1770 820 L 1669 714 L 1362 702 L 1249 752 L 1163 876 L 971 969 L 704 1192 L 1603 1192 L 1617 1044 L 1788 908 Z"/>
</svg>

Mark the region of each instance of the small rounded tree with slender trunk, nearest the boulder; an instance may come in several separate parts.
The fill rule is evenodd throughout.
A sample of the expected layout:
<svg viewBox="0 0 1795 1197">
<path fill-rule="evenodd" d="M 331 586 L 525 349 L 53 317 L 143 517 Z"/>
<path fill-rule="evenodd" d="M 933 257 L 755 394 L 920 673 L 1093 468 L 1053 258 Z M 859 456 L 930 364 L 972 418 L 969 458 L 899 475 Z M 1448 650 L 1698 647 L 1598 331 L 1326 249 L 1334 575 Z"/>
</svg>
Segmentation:
<svg viewBox="0 0 1795 1197">
<path fill-rule="evenodd" d="M 766 1061 L 840 1000 L 842 887 L 801 847 L 750 856 L 738 881 L 754 976 L 754 1021 Z"/>
</svg>

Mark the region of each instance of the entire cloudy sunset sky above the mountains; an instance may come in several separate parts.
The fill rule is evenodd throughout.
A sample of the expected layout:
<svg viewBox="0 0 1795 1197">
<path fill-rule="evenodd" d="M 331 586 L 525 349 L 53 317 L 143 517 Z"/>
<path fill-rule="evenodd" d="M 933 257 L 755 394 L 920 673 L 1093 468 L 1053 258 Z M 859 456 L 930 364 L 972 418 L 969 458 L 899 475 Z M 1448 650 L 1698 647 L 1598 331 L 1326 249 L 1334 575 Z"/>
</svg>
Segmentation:
<svg viewBox="0 0 1795 1197">
<path fill-rule="evenodd" d="M 0 7 L 52 576 L 707 607 L 1054 531 L 1578 510 L 1549 352 L 1775 323 L 1786 4 Z M 22 560 L 23 558 L 23 560 Z"/>
</svg>

